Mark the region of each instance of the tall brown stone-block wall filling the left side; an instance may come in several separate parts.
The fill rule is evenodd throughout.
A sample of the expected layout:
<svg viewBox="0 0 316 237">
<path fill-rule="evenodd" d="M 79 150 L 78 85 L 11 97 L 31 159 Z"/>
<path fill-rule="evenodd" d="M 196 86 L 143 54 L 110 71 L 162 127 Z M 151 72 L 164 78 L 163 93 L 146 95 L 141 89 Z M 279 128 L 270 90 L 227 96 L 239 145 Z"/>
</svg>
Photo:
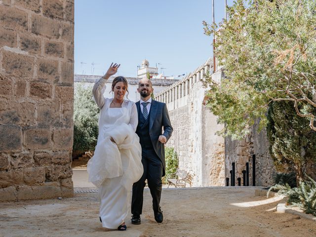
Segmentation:
<svg viewBox="0 0 316 237">
<path fill-rule="evenodd" d="M 0 1 L 0 201 L 73 196 L 74 0 Z"/>
</svg>

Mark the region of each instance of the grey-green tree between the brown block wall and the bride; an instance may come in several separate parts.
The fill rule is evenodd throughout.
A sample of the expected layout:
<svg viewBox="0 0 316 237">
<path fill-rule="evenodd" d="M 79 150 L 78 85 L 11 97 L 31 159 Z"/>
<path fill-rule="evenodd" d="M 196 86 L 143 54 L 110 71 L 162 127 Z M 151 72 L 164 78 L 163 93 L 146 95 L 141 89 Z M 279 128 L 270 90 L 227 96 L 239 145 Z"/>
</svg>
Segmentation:
<svg viewBox="0 0 316 237">
<path fill-rule="evenodd" d="M 75 83 L 74 151 L 94 150 L 98 139 L 99 108 L 92 96 L 92 86 Z"/>
</svg>

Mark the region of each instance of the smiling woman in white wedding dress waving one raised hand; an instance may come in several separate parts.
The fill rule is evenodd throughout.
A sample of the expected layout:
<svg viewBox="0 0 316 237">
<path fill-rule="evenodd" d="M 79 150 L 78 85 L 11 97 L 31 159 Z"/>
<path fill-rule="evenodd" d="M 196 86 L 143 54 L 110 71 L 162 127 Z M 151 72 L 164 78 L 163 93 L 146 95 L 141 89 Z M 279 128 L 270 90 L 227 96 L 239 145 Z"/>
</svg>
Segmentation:
<svg viewBox="0 0 316 237">
<path fill-rule="evenodd" d="M 99 187 L 100 221 L 108 229 L 125 231 L 132 184 L 143 174 L 141 146 L 136 135 L 138 124 L 134 102 L 124 100 L 128 87 L 124 77 L 112 82 L 114 98 L 104 98 L 105 83 L 117 73 L 111 64 L 107 73 L 93 86 L 93 96 L 100 108 L 99 135 L 94 156 L 89 160 L 89 182 Z"/>
</svg>

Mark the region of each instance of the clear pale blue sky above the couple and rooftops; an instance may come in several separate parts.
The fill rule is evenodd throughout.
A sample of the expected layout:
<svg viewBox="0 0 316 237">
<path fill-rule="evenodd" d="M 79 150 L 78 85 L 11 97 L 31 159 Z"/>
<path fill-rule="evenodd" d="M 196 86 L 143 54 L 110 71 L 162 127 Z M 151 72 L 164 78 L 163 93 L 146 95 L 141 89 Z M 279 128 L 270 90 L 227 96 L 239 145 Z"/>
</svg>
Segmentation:
<svg viewBox="0 0 316 237">
<path fill-rule="evenodd" d="M 224 14 L 215 0 L 216 22 Z M 75 74 L 91 75 L 95 63 L 103 75 L 117 62 L 118 75 L 136 77 L 145 58 L 165 76 L 190 73 L 212 55 L 203 20 L 212 21 L 212 0 L 75 0 Z"/>
</svg>

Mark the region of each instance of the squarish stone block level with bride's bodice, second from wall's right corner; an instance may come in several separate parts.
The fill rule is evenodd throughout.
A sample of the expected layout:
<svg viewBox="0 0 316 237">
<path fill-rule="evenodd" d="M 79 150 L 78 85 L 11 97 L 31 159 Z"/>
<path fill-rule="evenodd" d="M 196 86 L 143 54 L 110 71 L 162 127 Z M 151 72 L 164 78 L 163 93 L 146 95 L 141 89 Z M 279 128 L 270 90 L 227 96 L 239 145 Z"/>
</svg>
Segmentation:
<svg viewBox="0 0 316 237">
<path fill-rule="evenodd" d="M 60 105 L 58 102 L 44 102 L 38 105 L 37 122 L 39 126 L 50 126 L 53 124 L 59 125 L 60 123 Z"/>
</svg>

